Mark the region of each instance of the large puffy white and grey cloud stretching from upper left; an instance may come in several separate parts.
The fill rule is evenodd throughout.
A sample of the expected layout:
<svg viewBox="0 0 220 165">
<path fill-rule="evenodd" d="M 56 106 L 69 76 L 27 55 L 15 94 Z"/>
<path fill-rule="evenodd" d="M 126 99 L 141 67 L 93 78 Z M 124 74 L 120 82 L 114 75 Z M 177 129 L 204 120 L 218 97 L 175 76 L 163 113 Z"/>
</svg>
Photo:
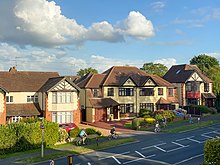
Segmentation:
<svg viewBox="0 0 220 165">
<path fill-rule="evenodd" d="M 145 39 L 154 35 L 153 25 L 139 12 L 132 11 L 123 28 L 107 21 L 85 28 L 62 15 L 60 6 L 47 0 L 0 1 L 0 41 L 21 46 L 55 47 L 81 45 L 87 40 L 121 42 L 126 35 Z"/>
</svg>

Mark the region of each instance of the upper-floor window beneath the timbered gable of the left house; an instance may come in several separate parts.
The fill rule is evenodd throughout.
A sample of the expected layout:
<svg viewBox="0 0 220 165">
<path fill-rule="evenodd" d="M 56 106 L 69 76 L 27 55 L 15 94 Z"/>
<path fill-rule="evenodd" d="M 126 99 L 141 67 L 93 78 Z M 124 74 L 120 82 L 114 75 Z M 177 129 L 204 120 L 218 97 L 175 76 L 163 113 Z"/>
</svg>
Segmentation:
<svg viewBox="0 0 220 165">
<path fill-rule="evenodd" d="M 52 93 L 52 103 L 72 103 L 73 102 L 73 93 L 71 92 L 53 92 Z"/>
</svg>

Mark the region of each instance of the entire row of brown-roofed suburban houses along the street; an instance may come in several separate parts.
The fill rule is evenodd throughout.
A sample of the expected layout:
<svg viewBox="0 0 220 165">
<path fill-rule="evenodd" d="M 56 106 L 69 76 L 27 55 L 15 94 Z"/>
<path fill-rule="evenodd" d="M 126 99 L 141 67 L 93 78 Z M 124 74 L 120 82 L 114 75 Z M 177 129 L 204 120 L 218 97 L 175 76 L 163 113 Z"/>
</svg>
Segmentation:
<svg viewBox="0 0 220 165">
<path fill-rule="evenodd" d="M 57 123 L 134 118 L 140 109 L 173 110 L 189 104 L 214 107 L 212 81 L 195 65 L 175 65 L 159 77 L 133 66 L 102 74 L 0 72 L 0 124 L 27 117 Z"/>
</svg>

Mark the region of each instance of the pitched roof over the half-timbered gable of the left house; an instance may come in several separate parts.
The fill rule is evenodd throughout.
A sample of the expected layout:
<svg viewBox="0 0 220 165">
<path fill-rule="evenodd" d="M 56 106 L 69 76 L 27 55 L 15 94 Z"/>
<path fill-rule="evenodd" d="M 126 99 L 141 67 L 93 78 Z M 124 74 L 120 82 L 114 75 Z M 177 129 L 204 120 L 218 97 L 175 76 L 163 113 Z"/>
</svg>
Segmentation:
<svg viewBox="0 0 220 165">
<path fill-rule="evenodd" d="M 80 90 L 79 87 L 76 84 L 74 84 L 73 82 L 70 82 L 66 77 L 61 76 L 61 77 L 49 78 L 47 80 L 47 82 L 39 89 L 39 91 L 48 92 L 48 91 L 50 91 L 51 88 L 56 86 L 61 81 L 67 81 L 69 84 L 71 84 L 78 91 Z"/>
</svg>

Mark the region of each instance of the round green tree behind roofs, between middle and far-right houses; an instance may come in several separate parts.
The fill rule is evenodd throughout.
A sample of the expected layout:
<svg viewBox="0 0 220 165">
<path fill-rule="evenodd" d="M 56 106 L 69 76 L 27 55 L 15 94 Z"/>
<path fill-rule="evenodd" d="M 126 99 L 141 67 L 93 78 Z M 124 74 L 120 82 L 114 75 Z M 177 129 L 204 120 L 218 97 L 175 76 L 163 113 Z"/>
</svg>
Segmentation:
<svg viewBox="0 0 220 165">
<path fill-rule="evenodd" d="M 160 63 L 154 64 L 152 62 L 145 63 L 141 70 L 144 70 L 147 73 L 158 75 L 158 76 L 164 76 L 165 73 L 168 71 L 168 68 Z"/>
</svg>

